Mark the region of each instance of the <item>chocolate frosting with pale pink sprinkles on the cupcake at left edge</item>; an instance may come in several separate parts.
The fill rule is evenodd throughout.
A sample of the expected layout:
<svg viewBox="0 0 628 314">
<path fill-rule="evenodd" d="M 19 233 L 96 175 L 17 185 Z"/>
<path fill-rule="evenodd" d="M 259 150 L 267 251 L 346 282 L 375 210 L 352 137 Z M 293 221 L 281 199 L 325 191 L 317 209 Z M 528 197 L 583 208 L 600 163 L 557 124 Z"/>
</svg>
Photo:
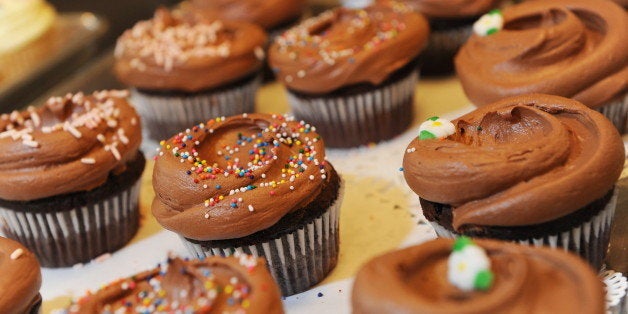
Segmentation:
<svg viewBox="0 0 628 314">
<path fill-rule="evenodd" d="M 138 153 L 140 120 L 126 91 L 50 98 L 0 116 L 0 198 L 28 201 L 102 185 Z"/>
</svg>

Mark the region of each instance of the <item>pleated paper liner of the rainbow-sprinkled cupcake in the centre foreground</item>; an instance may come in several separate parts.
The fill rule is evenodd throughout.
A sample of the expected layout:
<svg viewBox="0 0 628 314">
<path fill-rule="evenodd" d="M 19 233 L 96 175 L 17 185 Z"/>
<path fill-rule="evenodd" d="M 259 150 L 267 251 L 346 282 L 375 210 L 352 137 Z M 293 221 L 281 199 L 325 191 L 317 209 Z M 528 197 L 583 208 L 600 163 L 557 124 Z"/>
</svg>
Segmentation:
<svg viewBox="0 0 628 314">
<path fill-rule="evenodd" d="M 197 258 L 246 253 L 264 257 L 271 275 L 286 297 L 308 290 L 323 280 L 338 261 L 341 183 L 336 201 L 320 216 L 294 232 L 254 245 L 218 248 L 208 242 L 190 242 L 181 237 L 188 251 Z"/>
</svg>

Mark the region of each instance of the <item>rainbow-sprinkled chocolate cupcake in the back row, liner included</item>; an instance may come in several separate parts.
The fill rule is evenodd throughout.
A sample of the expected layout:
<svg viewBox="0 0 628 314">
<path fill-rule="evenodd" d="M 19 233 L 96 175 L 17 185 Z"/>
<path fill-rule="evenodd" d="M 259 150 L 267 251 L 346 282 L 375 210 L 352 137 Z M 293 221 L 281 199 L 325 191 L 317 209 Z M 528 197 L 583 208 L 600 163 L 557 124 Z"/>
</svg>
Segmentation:
<svg viewBox="0 0 628 314">
<path fill-rule="evenodd" d="M 269 62 L 297 119 L 331 147 L 390 139 L 412 122 L 427 21 L 397 3 L 337 8 L 275 40 Z"/>
</svg>

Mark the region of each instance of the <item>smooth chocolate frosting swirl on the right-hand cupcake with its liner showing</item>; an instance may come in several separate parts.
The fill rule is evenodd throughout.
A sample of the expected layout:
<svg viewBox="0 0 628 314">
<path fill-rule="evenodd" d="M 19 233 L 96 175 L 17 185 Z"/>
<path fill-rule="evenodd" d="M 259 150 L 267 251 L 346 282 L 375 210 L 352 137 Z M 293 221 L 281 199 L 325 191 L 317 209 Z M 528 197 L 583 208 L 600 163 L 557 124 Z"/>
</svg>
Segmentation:
<svg viewBox="0 0 628 314">
<path fill-rule="evenodd" d="M 606 195 L 623 169 L 617 130 L 575 100 L 515 96 L 452 122 L 445 139 L 414 139 L 403 167 L 419 196 L 453 207 L 456 230 L 564 217 Z"/>
</svg>

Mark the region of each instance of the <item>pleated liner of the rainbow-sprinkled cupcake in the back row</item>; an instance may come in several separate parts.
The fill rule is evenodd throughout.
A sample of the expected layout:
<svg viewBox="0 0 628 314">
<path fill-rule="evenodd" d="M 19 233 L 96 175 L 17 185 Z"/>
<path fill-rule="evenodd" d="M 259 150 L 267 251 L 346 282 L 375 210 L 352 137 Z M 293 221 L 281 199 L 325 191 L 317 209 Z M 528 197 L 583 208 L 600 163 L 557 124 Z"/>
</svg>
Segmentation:
<svg viewBox="0 0 628 314">
<path fill-rule="evenodd" d="M 397 82 L 366 93 L 307 97 L 288 92 L 295 117 L 316 126 L 328 147 L 355 147 L 387 140 L 412 123 L 415 71 Z"/>
</svg>

